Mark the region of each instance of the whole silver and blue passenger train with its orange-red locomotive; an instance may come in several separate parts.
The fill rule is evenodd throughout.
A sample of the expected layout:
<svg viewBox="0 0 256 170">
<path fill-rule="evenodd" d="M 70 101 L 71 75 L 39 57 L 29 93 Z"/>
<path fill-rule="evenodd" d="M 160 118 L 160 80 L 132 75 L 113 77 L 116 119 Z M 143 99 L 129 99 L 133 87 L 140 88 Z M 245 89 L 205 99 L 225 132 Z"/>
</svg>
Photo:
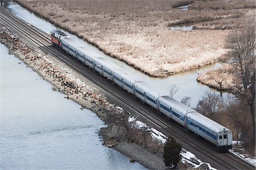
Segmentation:
<svg viewBox="0 0 256 170">
<path fill-rule="evenodd" d="M 60 30 L 51 31 L 51 42 L 57 48 L 76 57 L 123 90 L 133 94 L 134 97 L 154 107 L 159 113 L 164 114 L 169 119 L 173 119 L 183 126 L 185 130 L 201 136 L 201 138 L 213 144 L 217 150 L 227 152 L 232 148 L 233 136 L 232 131 L 228 128 L 176 101 L 118 65 L 76 43 L 70 36 Z"/>
</svg>

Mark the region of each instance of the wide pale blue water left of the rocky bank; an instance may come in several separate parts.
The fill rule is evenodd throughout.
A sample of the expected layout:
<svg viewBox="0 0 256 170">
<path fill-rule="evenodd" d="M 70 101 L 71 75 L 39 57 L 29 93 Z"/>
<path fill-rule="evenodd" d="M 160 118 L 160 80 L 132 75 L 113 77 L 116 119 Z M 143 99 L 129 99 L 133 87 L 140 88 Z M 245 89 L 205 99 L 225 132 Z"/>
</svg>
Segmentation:
<svg viewBox="0 0 256 170">
<path fill-rule="evenodd" d="M 0 60 L 0 169 L 146 169 L 102 146 L 104 122 L 53 92 L 2 44 Z"/>
</svg>

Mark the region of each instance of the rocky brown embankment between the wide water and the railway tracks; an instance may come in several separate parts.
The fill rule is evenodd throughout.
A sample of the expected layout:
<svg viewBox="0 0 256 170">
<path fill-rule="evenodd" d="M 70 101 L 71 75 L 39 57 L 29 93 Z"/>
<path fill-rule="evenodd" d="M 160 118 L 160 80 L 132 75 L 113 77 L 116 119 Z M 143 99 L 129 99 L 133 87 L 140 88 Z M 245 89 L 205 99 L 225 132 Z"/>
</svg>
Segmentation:
<svg viewBox="0 0 256 170">
<path fill-rule="evenodd" d="M 128 121 L 129 113 L 109 103 L 97 87 L 79 77 L 67 65 L 32 45 L 30 47 L 27 42 L 23 43 L 5 26 L 0 24 L 0 27 L 0 43 L 6 45 L 11 54 L 50 82 L 52 90 L 64 93 L 65 98 L 79 103 L 81 109 L 92 110 L 106 123 L 107 126 L 100 130 L 102 144 L 129 156 L 131 162 L 138 161 L 150 169 L 166 168 L 162 159 L 163 144 L 153 140 L 145 129 L 131 126 L 133 122 Z"/>
</svg>

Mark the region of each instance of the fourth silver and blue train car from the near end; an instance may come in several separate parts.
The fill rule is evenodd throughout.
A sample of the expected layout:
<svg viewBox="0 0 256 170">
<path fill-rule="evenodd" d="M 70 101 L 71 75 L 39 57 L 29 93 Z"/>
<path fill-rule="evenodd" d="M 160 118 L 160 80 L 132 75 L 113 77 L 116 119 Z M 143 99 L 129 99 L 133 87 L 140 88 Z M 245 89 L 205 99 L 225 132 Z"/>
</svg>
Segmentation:
<svg viewBox="0 0 256 170">
<path fill-rule="evenodd" d="M 115 84 L 121 86 L 127 92 L 134 94 L 134 83 L 142 82 L 139 78 L 133 76 L 133 74 L 126 72 L 122 68 L 114 69 L 113 81 Z"/>
</svg>

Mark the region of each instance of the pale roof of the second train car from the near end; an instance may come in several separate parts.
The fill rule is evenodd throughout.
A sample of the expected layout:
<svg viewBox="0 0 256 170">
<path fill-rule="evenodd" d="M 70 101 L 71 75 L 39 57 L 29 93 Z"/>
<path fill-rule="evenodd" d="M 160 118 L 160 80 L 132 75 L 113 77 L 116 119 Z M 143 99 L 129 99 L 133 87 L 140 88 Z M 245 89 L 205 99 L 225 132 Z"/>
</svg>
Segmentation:
<svg viewBox="0 0 256 170">
<path fill-rule="evenodd" d="M 183 103 L 176 101 L 176 99 L 170 97 L 170 96 L 161 96 L 159 97 L 159 101 L 163 101 L 167 103 L 172 108 L 175 108 L 180 113 L 186 114 L 191 112 L 196 112 L 195 110 L 191 109 L 190 107 L 184 105 Z"/>
</svg>

